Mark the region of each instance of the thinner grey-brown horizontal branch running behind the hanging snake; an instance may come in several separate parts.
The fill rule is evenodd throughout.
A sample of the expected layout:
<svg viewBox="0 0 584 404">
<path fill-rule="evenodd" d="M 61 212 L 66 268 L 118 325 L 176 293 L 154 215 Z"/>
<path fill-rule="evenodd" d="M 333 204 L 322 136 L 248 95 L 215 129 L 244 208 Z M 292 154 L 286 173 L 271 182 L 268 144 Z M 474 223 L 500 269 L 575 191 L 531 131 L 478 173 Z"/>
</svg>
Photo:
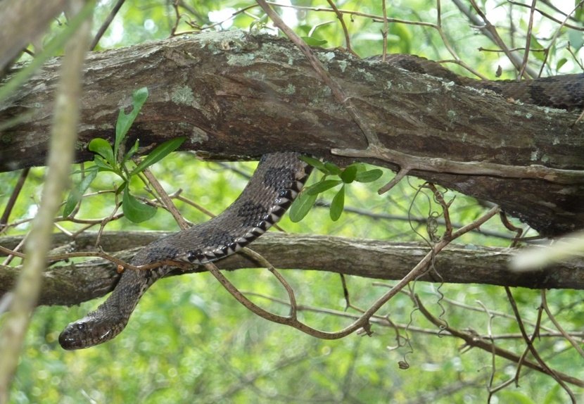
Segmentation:
<svg viewBox="0 0 584 404">
<path fill-rule="evenodd" d="M 129 262 L 137 248 L 167 232 L 106 232 L 102 246 L 116 257 Z M 68 251 L 95 251 L 94 232 L 86 232 L 71 241 L 64 234 L 55 237 L 56 246 L 67 244 Z M 16 246 L 20 237 L 6 237 L 4 246 Z M 278 268 L 338 272 L 374 279 L 402 279 L 428 251 L 418 243 L 350 239 L 315 234 L 283 234 L 269 232 L 253 244 Z M 508 261 L 513 255 L 508 248 L 472 248 L 455 244 L 443 250 L 436 259 L 437 272 L 421 277 L 425 282 L 459 284 L 492 284 L 523 286 L 532 289 L 584 289 L 584 268 L 578 262 L 564 262 L 550 270 L 513 272 Z M 241 254 L 217 262 L 222 270 L 257 267 Z M 193 270 L 192 272 L 201 272 Z M 0 267 L 0 297 L 10 291 L 18 268 Z M 177 270 L 172 274 L 182 274 Z M 56 264 L 44 274 L 44 289 L 39 304 L 73 305 L 98 298 L 113 290 L 119 278 L 118 266 L 106 260 L 91 259 L 83 263 Z M 441 278 L 440 278 L 441 277 Z"/>
</svg>

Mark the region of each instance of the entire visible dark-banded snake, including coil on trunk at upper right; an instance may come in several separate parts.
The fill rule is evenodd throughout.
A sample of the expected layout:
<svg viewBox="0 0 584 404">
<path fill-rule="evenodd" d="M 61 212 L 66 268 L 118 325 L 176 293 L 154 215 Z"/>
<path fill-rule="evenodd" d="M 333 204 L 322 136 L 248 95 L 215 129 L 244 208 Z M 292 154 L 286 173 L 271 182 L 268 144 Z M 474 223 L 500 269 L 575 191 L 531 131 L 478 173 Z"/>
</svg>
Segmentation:
<svg viewBox="0 0 584 404">
<path fill-rule="evenodd" d="M 380 59 L 375 56 L 370 60 Z M 584 73 L 519 82 L 472 80 L 417 56 L 388 55 L 386 62 L 461 86 L 488 89 L 523 103 L 564 109 L 582 108 L 584 104 Z M 239 198 L 223 213 L 148 244 L 137 253 L 132 265 L 165 260 L 193 265 L 209 263 L 250 244 L 284 215 L 310 175 L 312 168 L 298 156 L 300 153 L 296 152 L 266 154 Z M 125 270 L 113 293 L 97 310 L 65 327 L 59 336 L 61 346 L 74 350 L 113 339 L 125 328 L 144 292 L 170 270 L 170 266 L 140 272 Z"/>
</svg>

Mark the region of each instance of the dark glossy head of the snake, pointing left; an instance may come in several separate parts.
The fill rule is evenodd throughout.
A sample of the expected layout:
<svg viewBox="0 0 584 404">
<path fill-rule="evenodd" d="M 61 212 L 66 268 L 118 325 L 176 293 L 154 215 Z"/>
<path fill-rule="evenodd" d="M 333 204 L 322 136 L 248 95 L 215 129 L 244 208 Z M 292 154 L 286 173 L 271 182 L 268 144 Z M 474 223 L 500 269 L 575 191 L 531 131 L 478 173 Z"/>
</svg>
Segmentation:
<svg viewBox="0 0 584 404">
<path fill-rule="evenodd" d="M 89 348 L 113 339 L 123 329 L 123 327 L 118 328 L 106 327 L 103 322 L 88 315 L 81 320 L 69 323 L 59 335 L 59 343 L 67 351 Z"/>
</svg>

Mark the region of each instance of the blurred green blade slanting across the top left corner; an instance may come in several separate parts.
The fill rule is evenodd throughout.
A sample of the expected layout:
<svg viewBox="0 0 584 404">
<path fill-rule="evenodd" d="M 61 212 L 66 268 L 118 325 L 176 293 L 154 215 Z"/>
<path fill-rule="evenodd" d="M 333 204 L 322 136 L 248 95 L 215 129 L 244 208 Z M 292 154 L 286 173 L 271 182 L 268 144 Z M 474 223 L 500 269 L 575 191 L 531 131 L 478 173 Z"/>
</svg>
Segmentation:
<svg viewBox="0 0 584 404">
<path fill-rule="evenodd" d="M 10 96 L 13 91 L 18 89 L 31 75 L 34 74 L 45 62 L 46 59 L 53 56 L 58 49 L 61 49 L 65 42 L 68 41 L 70 37 L 75 35 L 75 32 L 79 29 L 80 25 L 87 20 L 93 13 L 95 7 L 95 1 L 88 1 L 87 4 L 81 9 L 79 13 L 69 20 L 65 28 L 57 34 L 56 37 L 51 39 L 48 44 L 44 45 L 42 52 L 34 55 L 34 58 L 30 63 L 27 63 L 25 68 L 18 70 L 18 73 L 14 77 L 0 87 L 0 103 L 4 101 L 8 96 Z M 6 107 L 6 106 L 4 106 Z"/>
</svg>

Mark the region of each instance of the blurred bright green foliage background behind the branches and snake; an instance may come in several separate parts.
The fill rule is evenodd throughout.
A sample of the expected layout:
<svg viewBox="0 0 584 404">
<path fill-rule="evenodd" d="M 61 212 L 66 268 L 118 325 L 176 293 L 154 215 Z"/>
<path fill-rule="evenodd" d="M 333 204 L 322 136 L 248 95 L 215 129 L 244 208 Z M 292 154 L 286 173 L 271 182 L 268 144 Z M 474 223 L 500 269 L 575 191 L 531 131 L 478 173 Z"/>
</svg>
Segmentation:
<svg viewBox="0 0 584 404">
<path fill-rule="evenodd" d="M 479 46 L 493 48 L 483 35 L 469 27 L 469 23 L 450 2 L 443 2 L 443 30 L 464 61 L 476 70 L 494 78 L 497 64 L 502 64 L 504 78 L 512 76 L 504 57 L 497 53 L 478 52 Z M 484 4 L 486 3 L 486 4 Z M 191 11 L 202 19 L 201 25 L 212 23 L 210 12 L 227 8 L 243 8 L 252 1 L 185 1 Z M 328 7 L 325 1 L 294 1 L 297 6 Z M 382 15 L 381 1 L 336 1 L 345 10 Z M 483 9 L 494 15 L 504 12 L 508 4 L 493 1 L 479 2 Z M 96 9 L 94 30 L 109 13 L 113 1 L 102 1 Z M 284 9 L 284 8 L 283 8 Z M 291 9 L 287 9 L 288 11 Z M 525 29 L 528 15 L 514 8 L 514 23 Z M 181 11 L 188 13 L 184 8 Z M 252 8 L 248 13 L 259 18 L 263 13 Z M 433 1 L 393 1 L 388 4 L 388 16 L 412 21 L 436 22 L 436 4 Z M 317 27 L 312 37 L 326 39 L 324 46 L 345 46 L 341 25 L 332 13 L 298 11 L 296 32 L 303 36 Z M 191 18 L 196 18 L 191 14 Z M 205 20 L 206 19 L 206 20 Z M 64 21 L 61 17 L 60 23 Z M 148 40 L 168 37 L 174 25 L 175 15 L 171 4 L 162 0 L 127 1 L 113 25 L 106 32 L 99 49 L 129 46 Z M 246 29 L 254 18 L 237 15 L 231 27 Z M 504 25 L 504 18 L 500 24 Z M 345 22 L 351 34 L 353 49 L 360 56 L 372 56 L 383 51 L 381 23 L 371 18 L 347 15 Z M 579 25 L 581 26 L 580 19 Z M 551 25 L 535 27 L 535 36 L 547 37 Z M 256 25 L 256 28 L 258 25 Z M 61 27 L 53 24 L 48 40 Z M 191 30 L 181 23 L 179 32 Z M 501 29 L 507 34 L 507 31 Z M 580 41 L 582 32 L 566 30 L 550 54 L 552 68 L 548 74 L 573 68 L 561 61 L 569 58 L 566 38 L 573 46 Z M 521 46 L 521 44 L 516 44 Z M 579 46 L 578 46 L 579 49 Z M 576 51 L 578 51 L 576 49 Z M 436 30 L 419 25 L 392 24 L 388 34 L 388 52 L 416 53 L 433 59 L 452 58 L 447 53 Z M 462 72 L 457 66 L 452 70 Z M 251 174 L 254 163 L 236 163 L 235 166 Z M 75 168 L 77 170 L 77 168 Z M 229 167 L 215 163 L 201 163 L 187 153 L 175 153 L 153 167 L 153 172 L 167 191 L 184 188 L 184 196 L 220 213 L 239 195 L 247 179 Z M 44 170 L 34 168 L 12 220 L 25 220 L 34 215 L 39 201 Z M 417 179 L 403 182 L 385 196 L 376 196 L 375 190 L 391 179 L 391 172 L 374 184 L 354 184 L 348 187 L 345 206 L 407 217 L 427 217 L 431 209 L 430 196 L 414 199 Z M 18 172 L 4 173 L 0 177 L 0 204 L 6 204 Z M 117 179 L 101 173 L 88 192 L 111 189 Z M 315 182 L 313 176 L 312 182 Z M 78 181 L 78 178 L 75 178 Z M 139 183 L 132 189 L 139 190 Z M 146 194 L 144 194 L 146 195 Z M 324 194 L 331 201 L 334 192 Z M 447 192 L 446 199 L 454 196 Z M 413 201 L 413 202 L 412 202 Z M 189 220 L 207 220 L 202 213 L 177 203 Z M 113 208 L 113 195 L 101 194 L 87 198 L 82 204 L 79 217 L 105 217 Z M 432 206 L 436 209 L 436 206 Z M 457 195 L 452 204 L 452 219 L 468 223 L 485 212 L 481 204 L 472 198 Z M 78 229 L 70 222 L 61 223 L 70 230 Z M 519 225 L 519 222 L 516 222 Z M 417 232 L 426 235 L 423 227 L 412 222 Z M 366 215 L 343 213 L 341 220 L 331 222 L 322 208 L 312 210 L 305 220 L 291 223 L 286 217 L 281 227 L 289 232 L 313 232 L 341 236 L 367 237 L 391 241 L 420 241 L 405 220 L 381 220 Z M 28 222 L 11 231 L 25 233 Z M 133 225 L 127 220 L 110 222 L 107 230 L 164 229 L 178 230 L 170 214 L 158 210 L 153 220 Z M 496 220 L 482 227 L 483 230 L 504 232 Z M 443 231 L 443 229 L 441 229 Z M 530 234 L 528 234 L 530 235 Z M 469 248 L 474 244 L 508 246 L 509 241 L 468 234 L 459 242 Z M 438 268 L 440 270 L 440 268 Z M 320 272 L 283 271 L 288 282 L 298 293 L 303 305 L 343 311 L 345 301 L 341 280 L 337 274 Z M 253 291 L 266 296 L 286 299 L 285 291 L 266 270 L 240 270 L 227 274 L 240 290 Z M 376 297 L 386 291 L 383 286 L 372 286 L 372 279 L 348 277 L 348 288 L 353 304 L 366 309 Z M 487 333 L 488 315 L 484 310 L 472 311 L 450 303 L 481 308 L 480 301 L 489 310 L 511 313 L 502 288 L 480 285 L 438 285 L 419 283 L 416 293 L 435 315 L 445 308 L 443 318 L 460 329 L 474 329 L 478 334 Z M 525 320 L 536 320 L 540 304 L 538 291 L 514 290 Z M 548 301 L 565 329 L 582 329 L 584 306 L 575 291 L 550 291 Z M 275 313 L 286 314 L 287 308 L 266 298 L 253 297 L 253 301 Z M 25 348 L 15 376 L 11 403 L 475 403 L 485 402 L 492 371 L 489 353 L 474 349 L 465 351 L 462 342 L 450 336 L 438 336 L 438 330 L 417 313 L 410 298 L 396 296 L 386 305 L 381 315 L 390 315 L 399 324 L 411 322 L 410 346 L 390 351 L 396 346 L 395 330 L 374 325 L 372 337 L 351 335 L 341 341 L 320 341 L 296 329 L 272 324 L 248 312 L 224 291 L 210 274 L 189 274 L 158 282 L 146 293 L 125 332 L 113 341 L 84 351 L 63 351 L 58 345 L 58 334 L 65 324 L 83 317 L 101 301 L 83 303 L 80 307 L 41 307 L 34 313 L 32 327 L 27 334 Z M 348 313 L 356 313 L 348 310 Z M 335 315 L 300 312 L 302 320 L 324 330 L 338 330 L 350 320 Z M 0 324 L 2 320 L 0 318 Z M 550 325 L 549 320 L 544 321 Z M 531 327 L 531 326 L 529 326 Z M 417 331 L 419 329 L 420 331 Z M 531 327 L 533 329 L 533 327 Z M 518 333 L 513 318 L 498 315 L 493 320 L 493 334 Z M 400 331 L 405 335 L 404 331 Z M 400 343 L 403 344 L 403 339 Z M 521 353 L 520 339 L 498 340 L 505 348 Z M 547 363 L 580 379 L 583 359 L 574 355 L 564 339 L 542 339 L 538 348 L 545 353 Z M 400 370 L 398 361 L 406 355 L 408 370 Z M 496 360 L 493 386 L 513 377 L 516 367 L 501 359 Z M 522 371 L 519 386 L 509 386 L 496 393 L 492 403 L 562 403 L 567 395 L 550 377 Z M 582 393 L 575 389 L 577 393 Z"/>
</svg>

